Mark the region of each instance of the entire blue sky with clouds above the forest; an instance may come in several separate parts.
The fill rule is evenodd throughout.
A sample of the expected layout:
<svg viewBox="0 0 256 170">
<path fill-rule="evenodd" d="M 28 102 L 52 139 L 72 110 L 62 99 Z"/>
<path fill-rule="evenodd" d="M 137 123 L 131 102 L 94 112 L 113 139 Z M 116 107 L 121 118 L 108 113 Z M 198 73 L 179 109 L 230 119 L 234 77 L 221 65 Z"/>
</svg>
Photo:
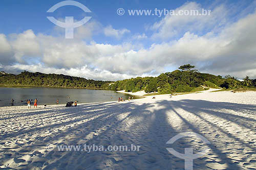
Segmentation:
<svg viewBox="0 0 256 170">
<path fill-rule="evenodd" d="M 91 12 L 71 5 L 47 12 L 60 2 L 1 0 L 0 71 L 116 81 L 155 77 L 189 63 L 200 72 L 256 78 L 256 1 L 78 0 Z M 163 10 L 203 9 L 210 12 L 160 16 Z M 65 28 L 47 16 L 61 22 L 67 16 L 74 22 L 91 19 L 68 39 Z"/>
</svg>

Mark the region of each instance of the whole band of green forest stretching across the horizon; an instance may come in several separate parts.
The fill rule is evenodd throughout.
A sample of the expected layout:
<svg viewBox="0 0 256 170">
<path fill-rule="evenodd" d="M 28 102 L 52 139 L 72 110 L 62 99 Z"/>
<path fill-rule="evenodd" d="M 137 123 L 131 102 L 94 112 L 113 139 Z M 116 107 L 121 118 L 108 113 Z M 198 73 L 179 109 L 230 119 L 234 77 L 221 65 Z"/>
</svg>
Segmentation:
<svg viewBox="0 0 256 170">
<path fill-rule="evenodd" d="M 23 71 L 19 75 L 0 74 L 1 85 L 14 86 L 47 86 L 47 87 L 65 87 L 65 88 L 93 88 L 106 90 L 125 90 L 127 92 L 145 90 L 145 92 L 158 92 L 161 94 L 174 92 L 190 92 L 200 86 L 222 89 L 237 89 L 241 87 L 256 88 L 256 79 L 251 80 L 248 76 L 244 81 L 229 75 L 215 76 L 205 74 L 194 69 L 194 65 L 186 64 L 172 72 L 165 72 L 158 77 L 137 77 L 121 81 L 94 81 L 79 77 L 42 74 L 40 72 Z"/>
</svg>

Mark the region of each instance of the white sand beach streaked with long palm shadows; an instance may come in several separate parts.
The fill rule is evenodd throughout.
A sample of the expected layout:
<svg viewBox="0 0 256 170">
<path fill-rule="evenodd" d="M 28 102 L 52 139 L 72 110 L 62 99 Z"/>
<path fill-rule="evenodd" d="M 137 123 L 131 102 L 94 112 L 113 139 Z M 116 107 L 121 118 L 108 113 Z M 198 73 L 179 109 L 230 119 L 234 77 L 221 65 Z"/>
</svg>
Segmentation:
<svg viewBox="0 0 256 170">
<path fill-rule="evenodd" d="M 147 96 L 131 102 L 0 108 L 2 169 L 184 169 L 184 153 L 210 149 L 194 169 L 256 169 L 256 92 Z M 181 132 L 198 138 L 166 142 Z M 57 145 L 140 145 L 137 152 L 47 150 Z M 51 148 L 50 147 L 50 148 Z"/>
</svg>

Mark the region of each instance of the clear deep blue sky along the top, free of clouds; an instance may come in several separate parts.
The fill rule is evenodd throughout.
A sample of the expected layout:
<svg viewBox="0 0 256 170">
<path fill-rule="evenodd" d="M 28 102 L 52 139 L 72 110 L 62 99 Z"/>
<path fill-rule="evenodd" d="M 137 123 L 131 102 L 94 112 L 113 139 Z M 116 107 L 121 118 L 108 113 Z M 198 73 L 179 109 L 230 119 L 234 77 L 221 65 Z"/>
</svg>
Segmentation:
<svg viewBox="0 0 256 170">
<path fill-rule="evenodd" d="M 1 1 L 1 16 L 0 19 L 5 24 L 1 26 L 1 32 L 5 34 L 23 32 L 24 30 L 32 29 L 35 33 L 48 32 L 53 25 L 48 21 L 46 16 L 49 14 L 46 11 L 53 5 L 62 2 L 59 0 L 53 1 L 16 1 L 4 0 Z M 127 15 L 118 16 L 116 10 L 123 9 L 155 9 L 155 8 L 169 8 L 175 9 L 183 5 L 186 1 L 162 1 L 156 3 L 155 1 L 77 1 L 87 6 L 93 16 L 93 19 L 102 23 L 102 25 L 112 25 L 113 27 L 129 28 L 134 32 L 142 32 L 141 22 L 144 24 L 153 23 L 159 20 L 158 17 L 129 17 Z M 84 12 L 72 6 L 61 7 L 53 13 L 53 16 L 65 17 L 74 16 L 75 19 L 80 20 Z M 139 25 L 139 27 L 138 27 Z"/>
</svg>

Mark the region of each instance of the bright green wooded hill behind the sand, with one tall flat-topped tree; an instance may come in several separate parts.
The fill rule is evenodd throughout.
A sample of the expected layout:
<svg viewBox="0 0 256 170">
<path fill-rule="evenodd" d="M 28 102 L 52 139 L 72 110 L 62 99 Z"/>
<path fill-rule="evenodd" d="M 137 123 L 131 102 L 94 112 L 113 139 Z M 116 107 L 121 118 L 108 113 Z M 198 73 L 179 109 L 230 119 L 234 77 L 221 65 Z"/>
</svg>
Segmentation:
<svg viewBox="0 0 256 170">
<path fill-rule="evenodd" d="M 186 64 L 180 70 L 165 72 L 158 77 L 137 77 L 116 81 L 109 88 L 111 90 L 125 90 L 126 92 L 145 90 L 145 92 L 158 92 L 160 94 L 174 92 L 191 92 L 201 85 L 209 88 L 233 89 L 242 87 L 241 81 L 234 77 L 215 76 L 198 72 L 194 65 Z"/>
</svg>

